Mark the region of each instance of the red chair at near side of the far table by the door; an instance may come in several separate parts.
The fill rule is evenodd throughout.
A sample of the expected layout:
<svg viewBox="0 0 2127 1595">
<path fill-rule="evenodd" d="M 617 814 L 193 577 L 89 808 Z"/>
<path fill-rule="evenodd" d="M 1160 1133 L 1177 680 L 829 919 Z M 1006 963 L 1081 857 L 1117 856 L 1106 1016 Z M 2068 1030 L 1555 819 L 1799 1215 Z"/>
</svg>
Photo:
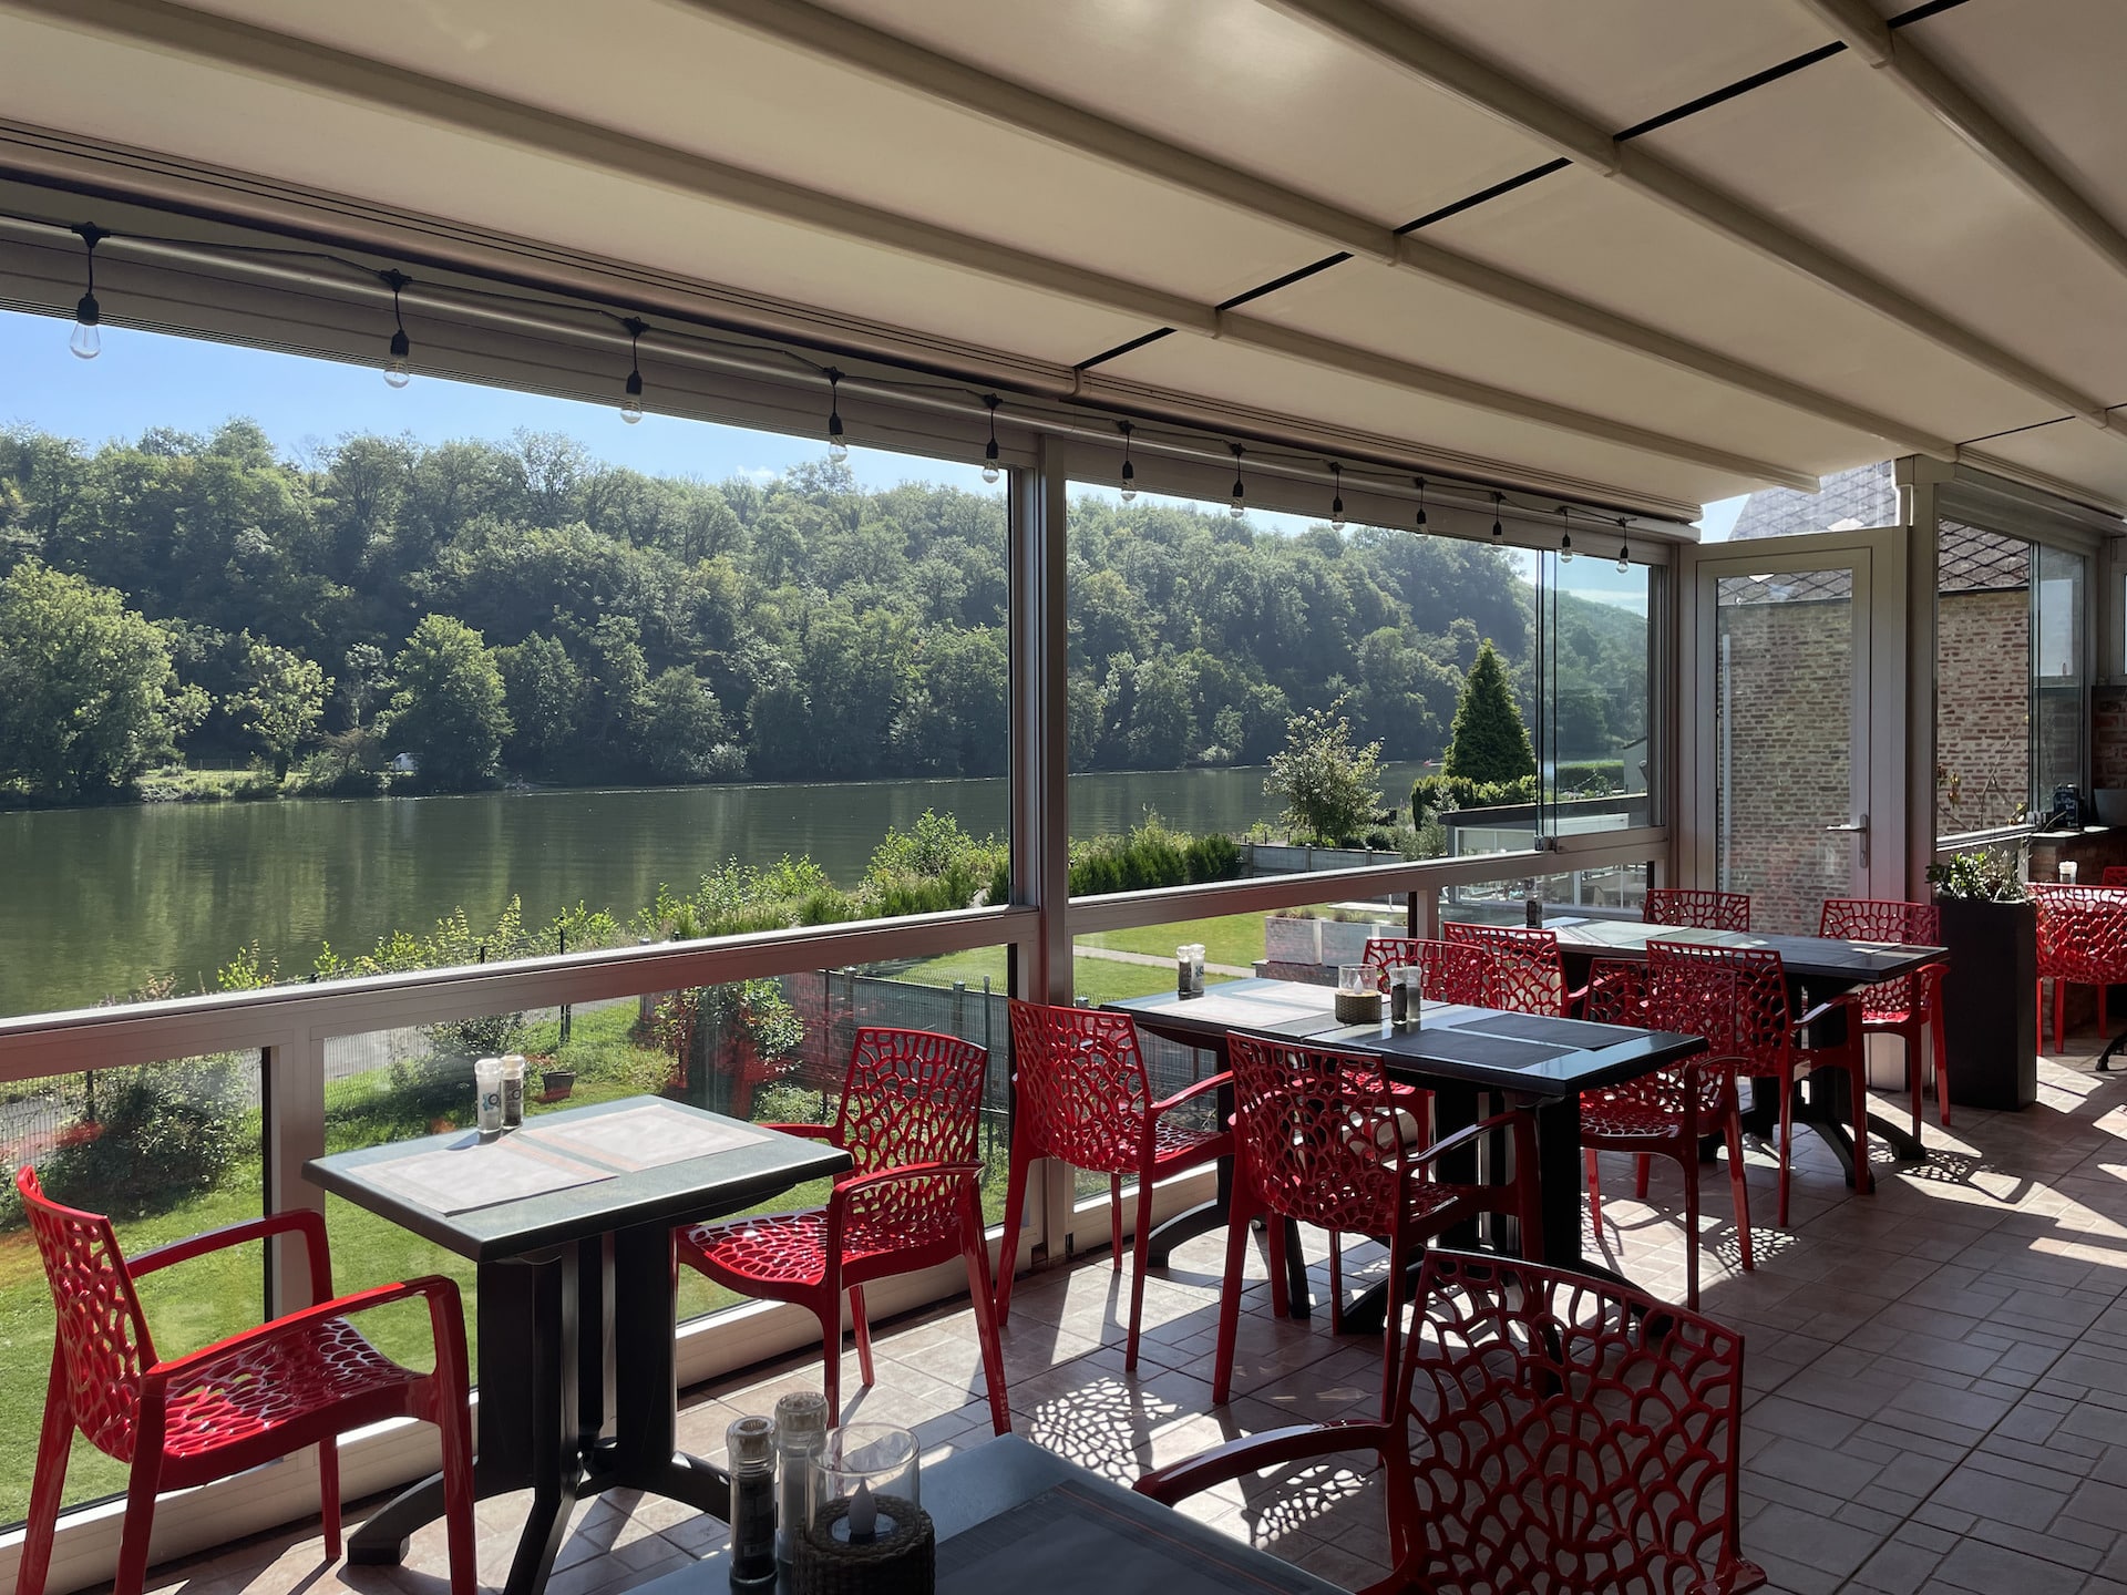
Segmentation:
<svg viewBox="0 0 2127 1595">
<path fill-rule="evenodd" d="M 1795 1080 L 1814 1068 L 1846 1072 L 1855 1121 L 1855 1191 L 1872 1187 L 1868 1165 L 1868 1070 L 1861 1068 L 1861 993 L 1846 991 L 1821 1002 L 1799 1019 L 1787 1002 L 1787 966 L 1770 948 L 1704 946 L 1699 942 L 1646 944 L 1648 1008 L 1661 1012 L 1663 1027 L 1704 1036 L 1708 1063 L 1731 1065 L 1736 1074 L 1780 1082 L 1780 1227 L 1787 1227 L 1787 1176 L 1793 1165 Z M 1833 1048 L 1810 1048 L 1802 1036 L 1844 1014 L 1846 1040 Z"/>
</svg>

